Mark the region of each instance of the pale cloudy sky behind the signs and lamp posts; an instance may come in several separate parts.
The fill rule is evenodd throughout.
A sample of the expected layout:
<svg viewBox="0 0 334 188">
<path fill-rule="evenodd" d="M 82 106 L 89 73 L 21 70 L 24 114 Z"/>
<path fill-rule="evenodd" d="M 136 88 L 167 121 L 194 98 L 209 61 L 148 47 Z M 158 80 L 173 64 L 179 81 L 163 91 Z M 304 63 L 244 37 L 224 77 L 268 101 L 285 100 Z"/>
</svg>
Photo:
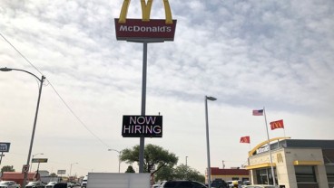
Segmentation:
<svg viewBox="0 0 334 188">
<path fill-rule="evenodd" d="M 163 116 L 162 146 L 204 174 L 204 96 L 209 101 L 211 166 L 246 164 L 251 147 L 270 137 L 333 139 L 334 2 L 331 0 L 170 0 L 174 42 L 148 44 L 146 114 Z M 139 145 L 123 138 L 123 115 L 140 115 L 142 43 L 117 41 L 123 0 L 1 0 L 0 67 L 46 77 L 33 155 L 41 170 L 118 172 L 118 154 Z M 133 0 L 128 18 L 141 18 Z M 162 1 L 152 18 L 164 19 Z M 18 52 L 17 52 L 18 51 Z M 21 53 L 21 54 L 20 54 Z M 0 71 L 1 166 L 26 163 L 38 80 Z M 251 136 L 251 145 L 241 144 Z M 77 163 L 77 164 L 74 164 Z M 128 164 L 121 164 L 121 171 Z M 138 165 L 133 165 L 138 171 Z M 33 164 L 33 170 L 36 164 Z"/>
</svg>

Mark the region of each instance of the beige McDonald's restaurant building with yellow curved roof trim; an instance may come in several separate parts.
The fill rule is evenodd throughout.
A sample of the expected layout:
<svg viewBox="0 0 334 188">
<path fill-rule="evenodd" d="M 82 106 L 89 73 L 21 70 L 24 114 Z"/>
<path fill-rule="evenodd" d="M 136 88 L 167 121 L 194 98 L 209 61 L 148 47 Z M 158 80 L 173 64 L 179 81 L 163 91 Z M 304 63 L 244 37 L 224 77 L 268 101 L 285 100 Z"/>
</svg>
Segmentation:
<svg viewBox="0 0 334 188">
<path fill-rule="evenodd" d="M 276 137 L 267 143 L 260 143 L 249 153 L 246 169 L 252 183 L 273 184 L 275 180 L 285 188 L 334 186 L 334 140 Z"/>
</svg>

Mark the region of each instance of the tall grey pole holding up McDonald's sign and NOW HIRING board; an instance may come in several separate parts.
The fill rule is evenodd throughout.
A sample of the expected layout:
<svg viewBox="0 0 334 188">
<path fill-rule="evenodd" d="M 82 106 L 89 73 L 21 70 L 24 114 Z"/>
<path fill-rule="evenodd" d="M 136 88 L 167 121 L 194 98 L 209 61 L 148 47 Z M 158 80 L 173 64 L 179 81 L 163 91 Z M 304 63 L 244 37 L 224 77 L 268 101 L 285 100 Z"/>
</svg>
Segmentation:
<svg viewBox="0 0 334 188">
<path fill-rule="evenodd" d="M 147 75 L 147 42 L 142 42 L 142 116 L 145 116 L 146 109 L 146 75 Z M 140 150 L 139 150 L 139 173 L 143 173 L 143 156 L 145 149 L 145 137 L 140 138 Z"/>
</svg>

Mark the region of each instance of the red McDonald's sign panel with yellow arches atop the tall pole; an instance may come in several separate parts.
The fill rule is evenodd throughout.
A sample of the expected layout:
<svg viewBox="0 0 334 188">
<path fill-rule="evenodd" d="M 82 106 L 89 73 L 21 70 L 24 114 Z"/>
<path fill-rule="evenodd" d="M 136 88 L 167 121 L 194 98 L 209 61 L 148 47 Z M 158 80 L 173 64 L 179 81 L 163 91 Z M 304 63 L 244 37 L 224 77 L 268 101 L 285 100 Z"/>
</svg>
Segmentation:
<svg viewBox="0 0 334 188">
<path fill-rule="evenodd" d="M 118 41 L 174 41 L 176 20 L 172 20 L 171 6 L 168 0 L 162 0 L 165 20 L 150 19 L 153 0 L 141 0 L 142 19 L 127 19 L 130 0 L 124 0 L 120 18 L 115 18 L 116 39 Z"/>
</svg>

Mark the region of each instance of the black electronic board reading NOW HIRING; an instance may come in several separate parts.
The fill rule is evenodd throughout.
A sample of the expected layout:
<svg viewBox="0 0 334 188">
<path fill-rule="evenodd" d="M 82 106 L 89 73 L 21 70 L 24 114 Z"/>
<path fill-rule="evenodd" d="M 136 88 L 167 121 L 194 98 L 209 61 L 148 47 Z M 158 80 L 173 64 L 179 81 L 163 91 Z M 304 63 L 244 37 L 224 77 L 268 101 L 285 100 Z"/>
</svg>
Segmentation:
<svg viewBox="0 0 334 188">
<path fill-rule="evenodd" d="M 162 137 L 162 116 L 123 116 L 123 137 Z"/>
</svg>

